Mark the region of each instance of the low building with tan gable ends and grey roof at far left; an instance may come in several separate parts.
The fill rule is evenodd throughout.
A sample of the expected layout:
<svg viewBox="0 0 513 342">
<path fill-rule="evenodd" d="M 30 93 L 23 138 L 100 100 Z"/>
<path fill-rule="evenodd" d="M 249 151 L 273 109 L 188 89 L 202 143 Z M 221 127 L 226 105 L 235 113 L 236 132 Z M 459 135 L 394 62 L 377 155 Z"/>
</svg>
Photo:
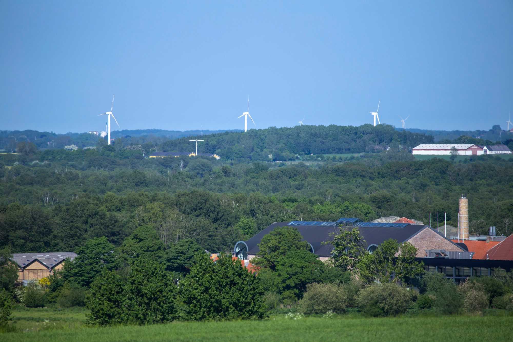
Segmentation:
<svg viewBox="0 0 513 342">
<path fill-rule="evenodd" d="M 15 253 L 12 260 L 18 267 L 18 280 L 37 280 L 48 277 L 64 267 L 64 260 L 76 257 L 72 252 Z"/>
</svg>

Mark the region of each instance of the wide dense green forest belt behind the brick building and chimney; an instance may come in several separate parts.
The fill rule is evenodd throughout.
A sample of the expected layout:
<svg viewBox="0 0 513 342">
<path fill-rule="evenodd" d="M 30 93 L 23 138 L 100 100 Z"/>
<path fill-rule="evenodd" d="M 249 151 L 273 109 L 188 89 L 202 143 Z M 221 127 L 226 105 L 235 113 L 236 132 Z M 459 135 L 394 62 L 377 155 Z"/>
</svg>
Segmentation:
<svg viewBox="0 0 513 342">
<path fill-rule="evenodd" d="M 436 226 L 435 213 L 443 225 L 446 212 L 456 226 L 461 194 L 470 201 L 472 234 L 495 225 L 508 235 L 513 226 L 513 168 L 500 157 L 413 161 L 389 151 L 285 165 L 135 152 L 108 146 L 1 156 L 0 246 L 74 251 L 101 236 L 117 246 L 143 224 L 166 245 L 191 238 L 212 252 L 229 251 L 277 221 L 394 215 L 428 223 L 431 212 Z"/>
</svg>

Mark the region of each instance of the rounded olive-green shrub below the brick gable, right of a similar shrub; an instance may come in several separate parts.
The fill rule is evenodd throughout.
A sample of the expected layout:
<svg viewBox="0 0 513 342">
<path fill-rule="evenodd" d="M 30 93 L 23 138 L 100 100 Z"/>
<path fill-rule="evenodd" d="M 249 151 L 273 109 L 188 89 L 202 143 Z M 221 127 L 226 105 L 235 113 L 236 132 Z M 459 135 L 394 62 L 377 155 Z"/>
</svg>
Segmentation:
<svg viewBox="0 0 513 342">
<path fill-rule="evenodd" d="M 393 283 L 369 286 L 358 295 L 358 307 L 369 316 L 395 316 L 405 313 L 413 304 L 414 291 Z"/>
</svg>

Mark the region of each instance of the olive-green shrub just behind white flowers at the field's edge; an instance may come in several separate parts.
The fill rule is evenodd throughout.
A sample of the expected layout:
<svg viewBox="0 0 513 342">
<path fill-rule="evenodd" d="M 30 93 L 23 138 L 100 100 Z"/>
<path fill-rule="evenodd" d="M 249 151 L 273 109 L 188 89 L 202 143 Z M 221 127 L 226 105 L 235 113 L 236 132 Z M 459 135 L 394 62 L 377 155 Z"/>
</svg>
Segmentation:
<svg viewBox="0 0 513 342">
<path fill-rule="evenodd" d="M 340 284 L 308 284 L 298 307 L 305 314 L 341 313 L 347 307 L 347 293 Z"/>
</svg>

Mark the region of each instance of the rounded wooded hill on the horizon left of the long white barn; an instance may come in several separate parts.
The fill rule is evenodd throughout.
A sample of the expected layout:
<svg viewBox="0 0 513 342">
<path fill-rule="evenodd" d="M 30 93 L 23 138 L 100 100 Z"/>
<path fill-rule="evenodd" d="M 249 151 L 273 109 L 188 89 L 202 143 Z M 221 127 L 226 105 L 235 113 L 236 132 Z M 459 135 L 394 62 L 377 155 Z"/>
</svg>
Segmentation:
<svg viewBox="0 0 513 342">
<path fill-rule="evenodd" d="M 223 158 L 254 161 L 295 160 L 304 155 L 349 154 L 376 151 L 377 146 L 408 149 L 433 138 L 408 131 L 398 132 L 390 125 L 355 126 L 295 126 L 250 129 L 244 134 L 226 132 L 211 135 L 199 145 L 199 150 L 216 153 Z M 189 151 L 188 139 L 164 142 L 163 151 Z"/>
</svg>

